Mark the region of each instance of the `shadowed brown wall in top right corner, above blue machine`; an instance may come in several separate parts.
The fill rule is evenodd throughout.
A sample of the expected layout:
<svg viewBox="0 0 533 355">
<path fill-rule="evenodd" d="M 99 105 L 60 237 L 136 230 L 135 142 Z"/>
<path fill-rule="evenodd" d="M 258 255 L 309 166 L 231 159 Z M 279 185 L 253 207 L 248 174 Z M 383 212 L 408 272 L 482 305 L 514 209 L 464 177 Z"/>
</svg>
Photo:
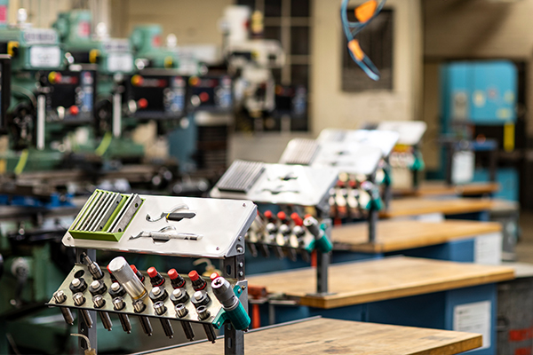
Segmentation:
<svg viewBox="0 0 533 355">
<path fill-rule="evenodd" d="M 424 0 L 425 55 L 529 58 L 533 0 Z"/>
</svg>

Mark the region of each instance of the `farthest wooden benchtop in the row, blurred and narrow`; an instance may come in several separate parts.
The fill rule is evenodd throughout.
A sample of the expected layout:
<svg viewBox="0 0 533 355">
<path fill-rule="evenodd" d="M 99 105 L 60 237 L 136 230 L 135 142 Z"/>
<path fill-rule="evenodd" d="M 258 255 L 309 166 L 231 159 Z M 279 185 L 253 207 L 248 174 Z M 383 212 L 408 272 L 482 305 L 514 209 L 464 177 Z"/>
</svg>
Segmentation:
<svg viewBox="0 0 533 355">
<path fill-rule="evenodd" d="M 465 185 L 449 186 L 444 181 L 424 181 L 418 189 L 393 189 L 395 195 L 436 196 L 436 195 L 481 195 L 496 193 L 499 190 L 497 183 L 471 183 Z"/>
</svg>

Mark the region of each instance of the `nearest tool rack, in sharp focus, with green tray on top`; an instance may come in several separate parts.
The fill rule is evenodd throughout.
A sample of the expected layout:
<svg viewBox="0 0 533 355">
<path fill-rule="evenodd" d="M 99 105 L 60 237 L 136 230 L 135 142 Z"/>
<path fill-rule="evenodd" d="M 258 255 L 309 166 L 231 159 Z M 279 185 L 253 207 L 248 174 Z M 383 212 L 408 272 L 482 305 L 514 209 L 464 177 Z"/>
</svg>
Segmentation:
<svg viewBox="0 0 533 355">
<path fill-rule="evenodd" d="M 126 332 L 131 331 L 128 317 L 138 316 L 147 335 L 152 331 L 149 319 L 159 319 L 169 337 L 170 320 L 179 320 L 189 340 L 194 337 L 190 323 L 201 323 L 213 343 L 214 329 L 224 327 L 225 353 L 243 354 L 243 332 L 250 324 L 244 235 L 256 215 L 251 201 L 97 190 L 63 237 L 65 246 L 76 248 L 76 265 L 48 305 L 60 306 L 69 324 L 74 322 L 70 310 L 76 309 L 79 333 L 94 348 L 96 327 L 91 323 L 98 312 L 107 330 L 108 314 L 115 313 Z M 173 269 L 139 272 L 122 256 L 100 268 L 96 249 L 222 259 L 223 275 L 213 274 L 210 280 L 196 272 L 181 276 Z M 128 272 L 132 276 L 124 281 Z M 80 347 L 84 353 L 84 339 Z"/>
</svg>

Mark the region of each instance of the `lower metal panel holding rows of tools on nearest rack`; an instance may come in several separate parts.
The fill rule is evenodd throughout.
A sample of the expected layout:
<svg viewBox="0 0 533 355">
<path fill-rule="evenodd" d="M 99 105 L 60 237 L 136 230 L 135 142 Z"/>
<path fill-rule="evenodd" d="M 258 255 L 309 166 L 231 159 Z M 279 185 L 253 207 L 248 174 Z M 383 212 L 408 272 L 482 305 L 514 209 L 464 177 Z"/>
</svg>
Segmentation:
<svg viewBox="0 0 533 355">
<path fill-rule="evenodd" d="M 104 278 L 101 279 L 104 281 L 104 283 L 107 286 L 107 291 L 102 295 L 104 297 L 104 300 L 106 301 L 106 304 L 102 308 L 95 308 L 94 305 L 92 304 L 91 292 L 89 292 L 89 288 L 87 287 L 85 291 L 83 292 L 83 295 L 85 297 L 85 303 L 83 306 L 78 307 L 76 306 L 76 304 L 74 304 L 74 301 L 72 298 L 74 294 L 68 286 L 70 285 L 70 282 L 72 282 L 72 280 L 76 278 L 76 272 L 81 272 L 81 271 L 84 272 L 84 276 L 83 276 L 84 280 L 87 282 L 88 285 L 90 285 L 92 281 L 92 277 L 91 277 L 91 273 L 87 269 L 87 266 L 85 266 L 84 264 L 76 264 L 74 268 L 68 274 L 67 278 L 63 281 L 60 288 L 58 288 L 58 291 L 62 290 L 65 293 L 65 295 L 67 295 L 67 300 L 62 304 L 57 304 L 54 297 L 52 296 L 52 299 L 48 302 L 47 305 L 59 305 L 59 306 L 69 307 L 69 308 L 81 308 L 81 309 L 86 309 L 89 311 L 127 313 L 129 315 L 135 315 L 135 316 L 147 316 L 147 317 L 164 318 L 164 319 L 178 319 L 178 320 L 184 320 L 184 321 L 192 321 L 192 322 L 197 322 L 197 323 L 209 323 L 209 324 L 212 324 L 213 320 L 219 314 L 219 312 L 223 311 L 222 305 L 219 303 L 219 300 L 212 293 L 211 280 L 209 280 L 209 278 L 203 278 L 207 282 L 207 286 L 204 288 L 204 290 L 211 297 L 211 302 L 210 304 L 207 305 L 208 311 L 211 313 L 211 316 L 205 320 L 198 319 L 195 305 L 191 302 L 191 299 L 195 293 L 195 290 L 188 276 L 181 275 L 186 280 L 185 288 L 187 289 L 187 294 L 189 296 L 188 301 L 185 303 L 188 313 L 187 313 L 187 316 L 184 318 L 176 317 L 176 312 L 174 311 L 174 304 L 172 303 L 170 299 L 170 295 L 172 291 L 174 290 L 174 288 L 172 288 L 171 280 L 169 279 L 168 275 L 164 272 L 160 272 L 161 276 L 163 276 L 165 280 L 163 287 L 168 293 L 167 298 L 163 301 L 164 305 L 167 308 L 166 313 L 164 313 L 162 316 L 156 314 L 154 311 L 154 302 L 152 302 L 149 296 L 147 296 L 144 299 L 144 302 L 147 305 L 145 311 L 141 313 L 136 313 L 133 311 L 132 299 L 131 299 L 131 296 L 129 296 L 128 294 L 125 294 L 123 296 L 125 307 L 123 308 L 122 311 L 117 312 L 113 308 L 113 297 L 111 297 L 108 292 L 109 288 L 111 288 L 112 281 L 111 281 L 109 272 L 107 272 L 106 268 L 102 268 L 102 272 L 104 273 Z M 141 272 L 141 273 L 145 276 L 145 280 L 143 283 L 144 283 L 145 288 L 147 288 L 147 292 L 149 293 L 150 290 L 153 288 L 152 285 L 150 284 L 150 278 L 148 277 L 147 272 Z M 235 279 L 226 279 L 226 280 L 229 281 L 232 287 L 235 286 L 235 283 L 236 283 Z M 96 319 L 92 319 L 92 320 L 95 321 Z M 219 326 L 220 325 L 217 325 L 217 327 Z"/>
</svg>

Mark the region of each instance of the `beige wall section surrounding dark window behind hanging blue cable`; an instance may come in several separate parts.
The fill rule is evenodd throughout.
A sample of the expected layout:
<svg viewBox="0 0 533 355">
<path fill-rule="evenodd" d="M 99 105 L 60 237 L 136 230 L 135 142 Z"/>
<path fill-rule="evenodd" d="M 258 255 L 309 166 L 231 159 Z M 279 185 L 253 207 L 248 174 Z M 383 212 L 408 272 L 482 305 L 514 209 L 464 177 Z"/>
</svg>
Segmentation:
<svg viewBox="0 0 533 355">
<path fill-rule="evenodd" d="M 356 3 L 354 3 L 356 4 Z M 312 128 L 354 129 L 362 122 L 414 120 L 421 116 L 422 18 L 419 0 L 389 0 L 394 9 L 394 90 L 341 91 L 339 3 L 314 0 L 312 36 Z"/>
</svg>

